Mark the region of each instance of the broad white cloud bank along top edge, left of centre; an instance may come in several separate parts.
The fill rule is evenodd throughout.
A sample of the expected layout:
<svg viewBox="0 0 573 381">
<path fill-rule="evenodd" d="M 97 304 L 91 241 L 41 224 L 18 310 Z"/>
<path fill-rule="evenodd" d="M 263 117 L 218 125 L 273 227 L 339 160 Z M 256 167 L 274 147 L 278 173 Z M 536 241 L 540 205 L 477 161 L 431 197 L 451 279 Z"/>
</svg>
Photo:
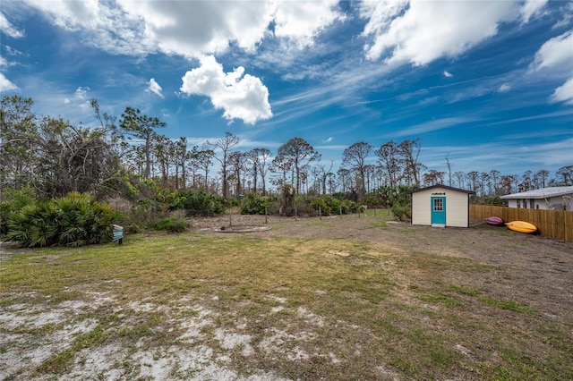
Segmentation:
<svg viewBox="0 0 573 381">
<path fill-rule="evenodd" d="M 77 32 L 84 42 L 116 55 L 166 54 L 201 57 L 231 45 L 254 51 L 264 38 L 299 47 L 334 21 L 345 19 L 338 1 L 152 1 L 27 0 L 47 20 Z"/>
</svg>

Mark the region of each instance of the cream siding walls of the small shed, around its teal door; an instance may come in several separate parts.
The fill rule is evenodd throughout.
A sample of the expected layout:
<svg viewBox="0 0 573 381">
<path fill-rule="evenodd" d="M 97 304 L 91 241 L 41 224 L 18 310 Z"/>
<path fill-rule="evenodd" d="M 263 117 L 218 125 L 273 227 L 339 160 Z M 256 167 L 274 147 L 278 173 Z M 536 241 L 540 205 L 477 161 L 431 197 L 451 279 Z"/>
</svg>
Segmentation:
<svg viewBox="0 0 573 381">
<path fill-rule="evenodd" d="M 432 197 L 446 198 L 446 226 L 468 227 L 468 194 L 439 187 L 412 193 L 412 224 L 432 224 Z"/>
</svg>

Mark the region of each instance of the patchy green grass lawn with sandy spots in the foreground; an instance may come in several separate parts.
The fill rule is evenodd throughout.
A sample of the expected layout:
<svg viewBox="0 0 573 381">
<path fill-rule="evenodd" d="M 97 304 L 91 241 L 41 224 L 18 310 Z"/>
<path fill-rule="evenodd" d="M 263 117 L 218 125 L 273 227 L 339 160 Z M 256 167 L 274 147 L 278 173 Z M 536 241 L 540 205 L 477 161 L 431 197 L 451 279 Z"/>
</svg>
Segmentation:
<svg viewBox="0 0 573 381">
<path fill-rule="evenodd" d="M 0 263 L 0 380 L 572 379 L 573 318 L 471 281 L 497 277 L 435 250 L 264 233 L 33 250 Z"/>
</svg>

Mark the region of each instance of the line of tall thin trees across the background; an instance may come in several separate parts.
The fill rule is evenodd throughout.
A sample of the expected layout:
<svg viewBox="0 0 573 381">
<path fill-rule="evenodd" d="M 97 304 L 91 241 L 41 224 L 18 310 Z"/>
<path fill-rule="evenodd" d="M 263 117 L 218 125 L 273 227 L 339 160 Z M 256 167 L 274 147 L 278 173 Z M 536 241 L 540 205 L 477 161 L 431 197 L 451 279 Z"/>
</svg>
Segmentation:
<svg viewBox="0 0 573 381">
<path fill-rule="evenodd" d="M 573 165 L 561 167 L 554 176 L 546 169 L 521 175 L 497 170 L 452 173 L 446 156 L 447 171 L 428 168 L 419 161 L 420 139 L 390 140 L 380 148 L 356 142 L 344 150 L 338 169 L 300 137 L 286 141 L 276 154 L 263 147 L 237 150 L 240 138 L 231 132 L 190 147 L 184 137 L 171 140 L 161 134 L 166 123 L 137 108 L 128 106 L 117 118 L 101 112 L 96 100 L 90 105 L 98 123 L 83 126 L 62 117 L 38 117 L 31 98 L 3 97 L 0 188 L 30 187 L 44 199 L 73 191 L 105 199 L 128 197 L 138 182 L 154 182 L 168 190 L 203 190 L 227 200 L 248 192 L 278 194 L 292 184 L 296 194 L 350 193 L 364 201 L 374 190 L 399 185 L 445 184 L 483 197 L 573 185 Z"/>
</svg>

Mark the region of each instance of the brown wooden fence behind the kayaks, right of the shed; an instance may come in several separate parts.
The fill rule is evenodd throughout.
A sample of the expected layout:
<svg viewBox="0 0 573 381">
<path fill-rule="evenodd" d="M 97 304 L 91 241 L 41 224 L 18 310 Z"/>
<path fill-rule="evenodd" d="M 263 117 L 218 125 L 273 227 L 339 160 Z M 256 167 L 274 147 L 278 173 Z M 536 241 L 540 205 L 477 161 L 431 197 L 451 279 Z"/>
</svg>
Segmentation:
<svg viewBox="0 0 573 381">
<path fill-rule="evenodd" d="M 497 207 L 470 204 L 471 220 L 483 221 L 489 216 L 498 216 L 504 222 L 526 221 L 535 224 L 543 237 L 573 242 L 573 211 L 525 209 L 521 207 Z"/>
</svg>

